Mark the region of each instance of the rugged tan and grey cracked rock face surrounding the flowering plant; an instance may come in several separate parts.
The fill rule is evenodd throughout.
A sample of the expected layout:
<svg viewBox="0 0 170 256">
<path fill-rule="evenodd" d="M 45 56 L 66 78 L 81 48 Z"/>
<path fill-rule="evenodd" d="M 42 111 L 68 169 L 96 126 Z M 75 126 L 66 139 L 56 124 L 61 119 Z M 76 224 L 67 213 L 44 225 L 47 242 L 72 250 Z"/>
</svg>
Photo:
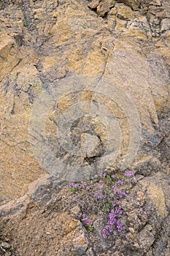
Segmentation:
<svg viewBox="0 0 170 256">
<path fill-rule="evenodd" d="M 5 0 L 0 17 L 0 240 L 12 244 L 13 255 L 169 255 L 169 0 Z M 133 102 L 141 125 L 134 125 L 141 130 L 140 144 L 129 166 L 139 181 L 122 200 L 125 230 L 112 241 L 98 231 L 104 224 L 100 214 L 93 233 L 82 225 L 77 195 L 67 195 L 64 178 L 39 165 L 28 134 L 42 91 L 65 81 L 68 87 L 80 76 L 83 83 L 97 79 L 98 93 L 77 90 L 52 106 L 45 129 L 55 157 L 70 167 L 76 162 L 100 168 L 108 128 L 96 102 L 109 110 L 109 121 L 114 116 L 123 138 L 112 171 L 133 153 L 131 138 L 136 143 L 123 95 Z M 106 93 L 104 79 L 122 92 L 120 105 Z M 58 143 L 56 124 L 79 102 L 93 102 L 103 119 L 86 115 L 73 122 L 72 141 L 87 149 L 75 159 Z M 119 129 L 111 129 L 115 138 Z M 61 207 L 66 197 L 72 203 Z"/>
</svg>

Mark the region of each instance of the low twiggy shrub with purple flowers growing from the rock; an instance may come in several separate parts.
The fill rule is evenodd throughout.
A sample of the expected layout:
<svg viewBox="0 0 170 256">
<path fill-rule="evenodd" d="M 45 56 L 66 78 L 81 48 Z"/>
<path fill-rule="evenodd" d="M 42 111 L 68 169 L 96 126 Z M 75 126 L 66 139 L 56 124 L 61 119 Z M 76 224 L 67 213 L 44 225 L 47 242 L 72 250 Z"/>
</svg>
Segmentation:
<svg viewBox="0 0 170 256">
<path fill-rule="evenodd" d="M 84 211 L 82 222 L 84 222 L 88 230 L 93 231 L 92 221 L 89 221 L 88 217 L 85 216 L 89 203 L 93 203 L 93 208 L 106 215 L 107 225 L 103 228 L 102 233 L 104 238 L 107 238 L 115 229 L 118 232 L 123 229 L 121 222 L 123 209 L 120 207 L 120 200 L 131 192 L 134 184 L 136 184 L 134 173 L 128 171 L 123 176 L 101 173 L 95 181 L 81 181 L 77 182 L 77 184 L 70 182 L 68 187 L 72 192 L 80 191 L 79 194 L 82 198 L 81 208 L 82 212 Z M 85 200 L 85 198 L 88 200 Z M 87 211 L 87 214 L 89 212 Z"/>
</svg>

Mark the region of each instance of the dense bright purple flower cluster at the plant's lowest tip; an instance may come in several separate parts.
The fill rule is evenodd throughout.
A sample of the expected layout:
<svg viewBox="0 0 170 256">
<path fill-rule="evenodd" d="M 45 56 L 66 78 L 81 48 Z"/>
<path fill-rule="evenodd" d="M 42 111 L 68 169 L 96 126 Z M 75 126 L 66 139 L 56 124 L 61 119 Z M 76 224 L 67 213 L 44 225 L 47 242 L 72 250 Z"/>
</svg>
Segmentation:
<svg viewBox="0 0 170 256">
<path fill-rule="evenodd" d="M 120 208 L 120 206 L 115 206 L 115 211 L 112 210 L 109 213 L 109 221 L 107 222 L 107 225 L 103 229 L 104 238 L 107 238 L 107 236 L 109 236 L 110 233 L 113 232 L 114 227 L 117 227 L 118 232 L 122 231 L 123 225 L 120 219 L 118 219 L 122 214 L 123 214 L 123 211 L 122 211 L 122 208 Z"/>
</svg>

